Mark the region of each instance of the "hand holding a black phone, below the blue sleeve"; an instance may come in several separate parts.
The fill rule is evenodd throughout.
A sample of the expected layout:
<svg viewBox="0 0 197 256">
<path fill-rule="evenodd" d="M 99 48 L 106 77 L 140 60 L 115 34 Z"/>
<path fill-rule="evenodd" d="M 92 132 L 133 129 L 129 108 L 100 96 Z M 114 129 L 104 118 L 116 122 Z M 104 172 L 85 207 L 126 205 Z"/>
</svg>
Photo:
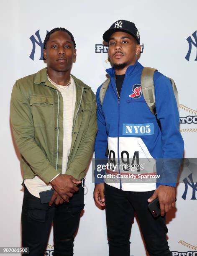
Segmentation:
<svg viewBox="0 0 197 256">
<path fill-rule="evenodd" d="M 154 192 L 154 194 L 148 199 L 148 202 L 152 202 L 156 197 L 159 199 L 161 216 L 164 216 L 166 212 L 171 210 L 171 207 L 175 206 L 175 187 L 160 185 Z"/>
</svg>

